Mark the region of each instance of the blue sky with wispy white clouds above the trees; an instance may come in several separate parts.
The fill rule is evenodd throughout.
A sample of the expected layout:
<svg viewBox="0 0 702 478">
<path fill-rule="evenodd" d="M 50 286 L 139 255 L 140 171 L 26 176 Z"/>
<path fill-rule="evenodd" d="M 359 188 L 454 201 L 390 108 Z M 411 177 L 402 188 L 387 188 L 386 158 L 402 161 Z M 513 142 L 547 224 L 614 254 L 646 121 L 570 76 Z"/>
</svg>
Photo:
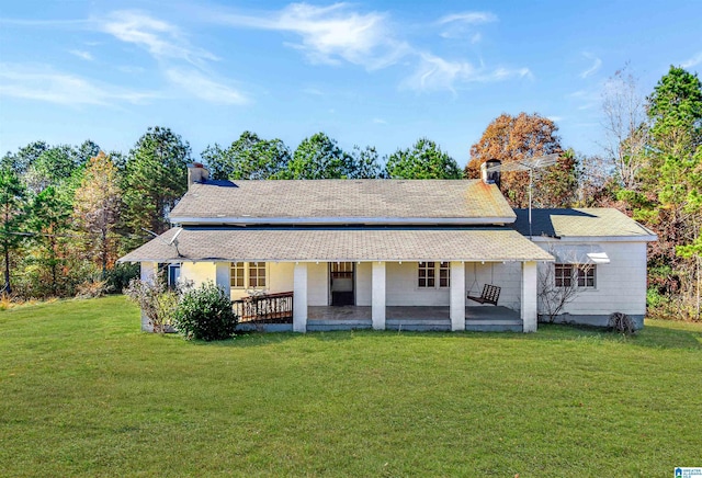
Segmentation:
<svg viewBox="0 0 702 478">
<path fill-rule="evenodd" d="M 0 0 L 0 153 L 127 152 L 160 125 L 195 157 L 324 130 L 382 155 L 426 136 L 463 166 L 522 111 L 596 153 L 607 79 L 629 62 L 647 94 L 670 65 L 702 70 L 701 24 L 702 1 Z"/>
</svg>

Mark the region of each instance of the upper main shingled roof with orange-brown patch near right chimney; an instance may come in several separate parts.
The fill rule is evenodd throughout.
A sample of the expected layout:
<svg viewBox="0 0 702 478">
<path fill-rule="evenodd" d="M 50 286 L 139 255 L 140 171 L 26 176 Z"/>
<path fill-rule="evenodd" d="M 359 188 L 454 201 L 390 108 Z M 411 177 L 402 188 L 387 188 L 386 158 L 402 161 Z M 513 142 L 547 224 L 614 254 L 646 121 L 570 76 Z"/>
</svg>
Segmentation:
<svg viewBox="0 0 702 478">
<path fill-rule="evenodd" d="M 507 224 L 514 213 L 479 180 L 210 181 L 192 184 L 173 224 Z M 278 219 L 278 220 L 275 220 Z"/>
</svg>

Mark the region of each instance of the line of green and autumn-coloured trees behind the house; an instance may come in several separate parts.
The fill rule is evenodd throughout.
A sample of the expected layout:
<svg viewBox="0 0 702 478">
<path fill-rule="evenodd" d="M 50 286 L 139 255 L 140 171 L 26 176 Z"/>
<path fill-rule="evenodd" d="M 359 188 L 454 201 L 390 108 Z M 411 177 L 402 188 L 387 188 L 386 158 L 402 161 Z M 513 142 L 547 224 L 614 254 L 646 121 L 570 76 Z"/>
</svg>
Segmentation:
<svg viewBox="0 0 702 478">
<path fill-rule="evenodd" d="M 350 151 L 325 133 L 294 150 L 281 139 L 244 132 L 214 144 L 201 161 L 214 179 L 478 178 L 488 159 L 503 163 L 556 153 L 536 172 L 536 207 L 618 207 L 652 228 L 649 305 L 661 315 L 700 317 L 702 239 L 702 88 L 697 75 L 671 67 L 648 96 L 626 69 L 608 82 L 603 153 L 565 148 L 557 125 L 537 113 L 501 114 L 471 149 L 462 170 L 428 138 L 381 157 L 372 146 Z M 69 296 L 91 287 L 121 291 L 135 274 L 115 266 L 128 250 L 168 229 L 168 213 L 186 190 L 193 161 L 186 140 L 155 126 L 127 152 L 35 141 L 0 159 L 0 247 L 3 291 L 21 297 Z M 529 175 L 502 174 L 513 207 L 528 204 Z"/>
</svg>

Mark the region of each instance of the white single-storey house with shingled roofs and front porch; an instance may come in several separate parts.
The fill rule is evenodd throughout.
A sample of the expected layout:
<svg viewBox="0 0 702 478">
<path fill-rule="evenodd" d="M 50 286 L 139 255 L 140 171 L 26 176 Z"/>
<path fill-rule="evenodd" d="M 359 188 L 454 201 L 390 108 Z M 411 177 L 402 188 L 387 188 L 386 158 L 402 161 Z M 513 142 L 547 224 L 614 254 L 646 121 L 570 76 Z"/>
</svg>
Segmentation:
<svg viewBox="0 0 702 478">
<path fill-rule="evenodd" d="M 598 322 L 613 311 L 643 318 L 650 231 L 610 209 L 534 213 L 530 240 L 523 212 L 487 174 L 230 182 L 193 164 L 170 214 L 174 227 L 121 261 L 139 262 L 144 280 L 168 266 L 171 280 L 212 281 L 257 310 L 268 300 L 268 319 L 284 316 L 270 314 L 273 301 L 290 300 L 290 320 L 269 320 L 285 323 L 268 330 L 533 332 L 540 270 L 558 268 L 563 282 L 566 265 L 599 258 L 609 263 L 597 263 L 566 320 Z M 467 298 L 485 284 L 499 286 L 497 305 Z"/>
</svg>

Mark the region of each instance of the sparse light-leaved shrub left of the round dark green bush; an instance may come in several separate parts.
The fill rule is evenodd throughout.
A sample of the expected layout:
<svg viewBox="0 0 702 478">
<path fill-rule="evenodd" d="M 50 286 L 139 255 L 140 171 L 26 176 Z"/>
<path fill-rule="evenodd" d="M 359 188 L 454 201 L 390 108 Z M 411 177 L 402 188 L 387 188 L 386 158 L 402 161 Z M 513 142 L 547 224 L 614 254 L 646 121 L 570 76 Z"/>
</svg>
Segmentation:
<svg viewBox="0 0 702 478">
<path fill-rule="evenodd" d="M 161 275 L 154 277 L 154 282 L 133 278 L 124 293 L 141 308 L 155 332 L 167 331 L 178 306 L 178 293 L 168 288 Z"/>
</svg>

